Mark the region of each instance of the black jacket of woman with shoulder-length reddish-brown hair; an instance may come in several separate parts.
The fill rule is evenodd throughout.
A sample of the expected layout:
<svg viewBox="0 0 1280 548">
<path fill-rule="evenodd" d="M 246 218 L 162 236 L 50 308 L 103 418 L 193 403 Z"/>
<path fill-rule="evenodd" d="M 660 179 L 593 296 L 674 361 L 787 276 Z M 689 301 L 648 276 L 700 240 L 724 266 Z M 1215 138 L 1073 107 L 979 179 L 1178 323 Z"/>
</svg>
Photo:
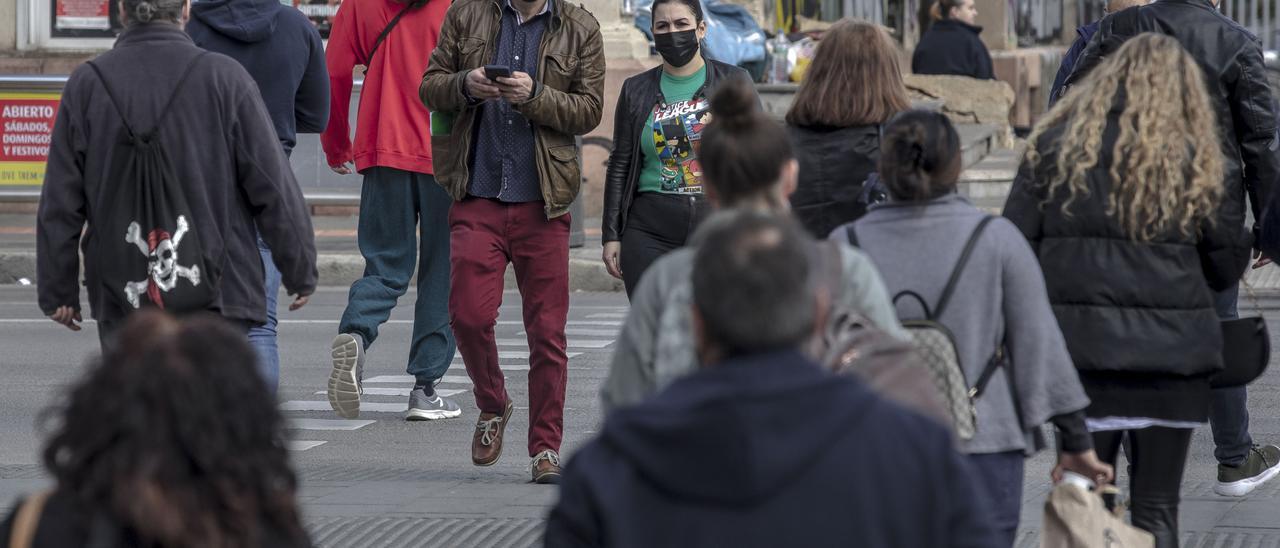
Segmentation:
<svg viewBox="0 0 1280 548">
<path fill-rule="evenodd" d="M 791 209 L 815 238 L 867 213 L 855 202 L 879 159 L 879 127 L 787 125 L 800 160 L 800 186 Z"/>
</svg>

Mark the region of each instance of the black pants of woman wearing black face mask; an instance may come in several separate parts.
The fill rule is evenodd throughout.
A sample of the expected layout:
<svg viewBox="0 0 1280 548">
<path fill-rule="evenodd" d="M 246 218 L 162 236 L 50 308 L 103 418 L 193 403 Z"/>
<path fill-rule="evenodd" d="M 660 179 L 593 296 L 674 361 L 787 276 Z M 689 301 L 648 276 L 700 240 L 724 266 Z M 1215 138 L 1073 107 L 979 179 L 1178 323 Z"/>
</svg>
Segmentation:
<svg viewBox="0 0 1280 548">
<path fill-rule="evenodd" d="M 622 232 L 622 282 L 627 297 L 640 284 L 640 277 L 658 257 L 682 247 L 710 207 L 700 195 L 643 192 L 631 202 L 627 228 Z"/>
</svg>

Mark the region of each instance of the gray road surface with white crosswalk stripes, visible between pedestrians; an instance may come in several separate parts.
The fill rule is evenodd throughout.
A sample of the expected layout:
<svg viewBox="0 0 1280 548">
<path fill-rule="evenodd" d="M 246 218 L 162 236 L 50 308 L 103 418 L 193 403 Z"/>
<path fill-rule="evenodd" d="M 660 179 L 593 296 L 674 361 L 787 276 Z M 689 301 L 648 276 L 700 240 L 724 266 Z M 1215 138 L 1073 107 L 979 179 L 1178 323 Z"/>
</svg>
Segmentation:
<svg viewBox="0 0 1280 548">
<path fill-rule="evenodd" d="M 360 423 L 339 421 L 321 391 L 328 379 L 329 339 L 346 303 L 346 291 L 321 289 L 298 312 L 283 312 L 280 326 L 284 415 L 294 420 L 294 466 L 302 479 L 305 520 L 325 547 L 516 547 L 535 544 L 556 488 L 529 483 L 527 364 L 518 325 L 518 294 L 508 292 L 498 325 L 508 389 L 517 412 L 508 428 L 502 461 L 490 469 L 470 462 L 470 437 L 477 414 L 470 382 L 456 361 L 442 391 L 458 391 L 461 419 L 406 423 L 398 410 L 412 384 L 403 378 L 412 309 L 410 293 L 369 353 L 366 406 Z M 40 411 L 73 382 L 96 351 L 92 324 L 81 333 L 41 318 L 31 287 L 0 287 L 0 510 L 15 497 L 47 485 L 37 465 Z M 602 420 L 596 389 L 612 342 L 626 314 L 621 293 L 579 293 L 570 310 L 570 384 L 563 452 L 589 439 Z M 1280 326 L 1280 312 L 1268 312 Z M 1277 341 L 1280 342 L 1280 341 Z M 378 388 L 378 391 L 367 391 Z M 389 396 L 370 394 L 383 392 Z M 1251 389 L 1258 442 L 1280 442 L 1280 371 L 1271 370 Z M 370 423 L 365 423 L 370 421 Z M 1038 545 L 1041 508 L 1052 458 L 1027 463 L 1023 533 L 1019 545 Z M 850 471 L 856 472 L 856 470 Z M 909 472 L 909 471 L 897 471 Z M 1244 499 L 1212 494 L 1216 463 L 1207 428 L 1197 431 L 1184 483 L 1184 547 L 1280 545 L 1280 480 Z"/>
</svg>

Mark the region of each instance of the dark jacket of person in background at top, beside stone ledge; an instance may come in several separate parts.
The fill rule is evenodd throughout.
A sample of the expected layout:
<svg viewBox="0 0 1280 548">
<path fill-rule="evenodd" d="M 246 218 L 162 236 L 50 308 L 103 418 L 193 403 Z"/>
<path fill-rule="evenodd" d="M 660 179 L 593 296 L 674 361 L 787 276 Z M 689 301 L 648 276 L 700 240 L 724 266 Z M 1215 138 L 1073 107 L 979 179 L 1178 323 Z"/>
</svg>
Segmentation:
<svg viewBox="0 0 1280 548">
<path fill-rule="evenodd" d="M 991 52 L 978 35 L 982 35 L 982 27 L 963 20 L 942 19 L 933 23 L 911 54 L 911 72 L 995 79 Z"/>
</svg>

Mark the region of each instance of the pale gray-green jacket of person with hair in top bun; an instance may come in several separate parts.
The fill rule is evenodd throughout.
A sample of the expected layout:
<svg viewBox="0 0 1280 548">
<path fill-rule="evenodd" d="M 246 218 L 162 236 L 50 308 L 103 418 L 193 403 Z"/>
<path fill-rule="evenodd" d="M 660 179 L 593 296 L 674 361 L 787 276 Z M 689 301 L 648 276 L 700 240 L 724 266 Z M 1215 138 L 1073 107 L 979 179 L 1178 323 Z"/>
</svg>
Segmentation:
<svg viewBox="0 0 1280 548">
<path fill-rule="evenodd" d="M 690 238 L 649 268 L 631 296 L 631 311 L 618 335 L 609 376 L 600 388 L 605 410 L 639 403 L 698 369 L 692 329 L 692 284 L 696 246 L 707 229 L 732 218 L 732 211 L 712 215 Z M 878 328 L 906 338 L 879 273 L 860 251 L 840 246 L 847 291 L 840 292 L 842 310 L 860 311 Z"/>
</svg>

